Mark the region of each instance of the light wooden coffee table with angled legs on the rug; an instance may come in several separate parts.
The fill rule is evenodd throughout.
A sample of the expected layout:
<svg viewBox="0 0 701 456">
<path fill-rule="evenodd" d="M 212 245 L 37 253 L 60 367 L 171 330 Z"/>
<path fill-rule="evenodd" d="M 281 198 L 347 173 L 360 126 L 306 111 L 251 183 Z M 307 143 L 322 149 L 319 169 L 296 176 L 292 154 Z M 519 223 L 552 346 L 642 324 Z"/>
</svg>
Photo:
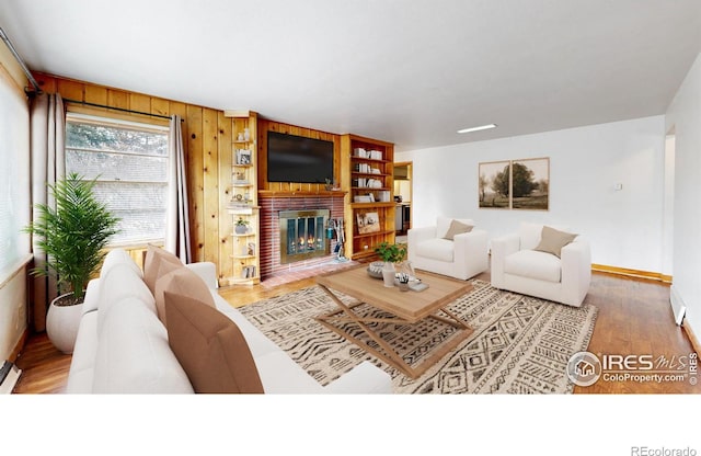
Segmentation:
<svg viewBox="0 0 701 456">
<path fill-rule="evenodd" d="M 387 362 L 409 377 L 417 378 L 460 342 L 464 341 L 473 330 L 459 317 L 446 309 L 448 304 L 469 293 L 472 289 L 472 285 L 463 281 L 421 271 L 416 272 L 416 276 L 428 285 L 427 289 L 423 292 L 400 292 L 398 287 L 386 287 L 381 280 L 372 278 L 368 275 L 366 264 L 320 275 L 317 277 L 317 283 L 331 296 L 338 309 L 317 317 L 317 321 Z M 357 299 L 357 301 L 346 305 L 334 292 L 341 292 Z M 391 314 L 393 318 L 370 318 L 358 315 L 354 311 L 354 308 L 361 304 L 368 304 Z M 436 315 L 439 311 L 447 317 Z M 388 341 L 380 337 L 380 331 L 375 331 L 367 324 L 378 322 L 414 324 L 426 318 L 433 318 L 450 324 L 457 328 L 458 333 L 437 346 L 424 362 L 413 367 L 402 358 Z M 337 326 L 338 323 L 347 322 L 357 324 L 381 350 L 370 346 L 367 342 L 349 334 Z"/>
</svg>

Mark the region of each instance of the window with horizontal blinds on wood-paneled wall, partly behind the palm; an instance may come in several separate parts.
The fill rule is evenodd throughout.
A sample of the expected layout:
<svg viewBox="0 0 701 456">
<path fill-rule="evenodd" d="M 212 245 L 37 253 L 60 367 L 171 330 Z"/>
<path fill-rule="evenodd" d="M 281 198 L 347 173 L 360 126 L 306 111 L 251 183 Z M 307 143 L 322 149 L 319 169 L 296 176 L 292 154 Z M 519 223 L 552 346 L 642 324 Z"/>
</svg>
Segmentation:
<svg viewBox="0 0 701 456">
<path fill-rule="evenodd" d="M 96 179 L 95 195 L 122 219 L 112 244 L 162 241 L 168 127 L 69 113 L 66 173 Z"/>
</svg>

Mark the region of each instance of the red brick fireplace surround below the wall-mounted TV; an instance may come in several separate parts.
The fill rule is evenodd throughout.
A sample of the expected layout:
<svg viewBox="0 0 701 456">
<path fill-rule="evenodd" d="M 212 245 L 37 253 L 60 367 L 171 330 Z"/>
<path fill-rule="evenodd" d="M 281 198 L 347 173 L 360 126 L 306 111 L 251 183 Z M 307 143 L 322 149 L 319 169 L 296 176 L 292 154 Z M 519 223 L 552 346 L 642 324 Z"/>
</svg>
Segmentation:
<svg viewBox="0 0 701 456">
<path fill-rule="evenodd" d="M 324 264 L 333 260 L 336 256 L 334 253 L 337 242 L 335 237 L 327 239 L 323 236 L 321 240 L 323 247 L 319 247 L 319 233 L 325 233 L 327 219 L 343 219 L 344 196 L 345 194 L 342 192 L 338 192 L 337 195 L 267 195 L 261 192 L 258 195 L 261 206 L 261 280 Z M 318 214 L 327 214 L 327 216 Z M 300 236 L 296 235 L 296 247 L 286 246 L 283 249 L 285 250 L 284 254 L 280 249 L 280 219 L 285 220 L 284 226 L 290 228 L 294 226 L 295 230 L 303 230 L 304 232 L 302 241 L 299 240 Z M 295 221 L 290 221 L 291 219 Z M 321 231 L 319 230 L 320 223 L 324 225 Z M 310 228 L 310 225 L 313 228 Z M 309 229 L 313 229 L 313 235 L 309 232 Z M 287 240 L 287 235 L 284 235 L 283 238 Z M 290 258 L 288 255 L 290 251 L 301 254 L 295 254 Z"/>
</svg>

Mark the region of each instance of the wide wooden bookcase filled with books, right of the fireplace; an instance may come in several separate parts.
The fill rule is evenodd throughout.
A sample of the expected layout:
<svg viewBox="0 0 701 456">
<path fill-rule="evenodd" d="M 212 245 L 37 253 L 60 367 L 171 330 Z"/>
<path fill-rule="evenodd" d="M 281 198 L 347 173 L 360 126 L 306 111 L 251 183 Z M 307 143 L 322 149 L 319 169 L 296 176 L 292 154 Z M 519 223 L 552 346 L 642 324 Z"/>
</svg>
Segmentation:
<svg viewBox="0 0 701 456">
<path fill-rule="evenodd" d="M 380 242 L 394 242 L 393 161 L 391 142 L 356 135 L 341 137 L 347 258 L 371 256 Z"/>
</svg>

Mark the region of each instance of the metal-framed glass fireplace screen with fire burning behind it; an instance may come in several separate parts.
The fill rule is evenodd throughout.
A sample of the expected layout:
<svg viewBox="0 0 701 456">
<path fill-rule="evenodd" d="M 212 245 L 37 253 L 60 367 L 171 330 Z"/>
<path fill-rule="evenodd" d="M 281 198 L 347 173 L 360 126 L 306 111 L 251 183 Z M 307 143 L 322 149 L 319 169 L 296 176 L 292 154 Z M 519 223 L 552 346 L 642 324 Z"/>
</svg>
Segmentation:
<svg viewBox="0 0 701 456">
<path fill-rule="evenodd" d="M 294 263 L 329 254 L 325 228 L 329 209 L 281 210 L 280 263 Z"/>
</svg>

